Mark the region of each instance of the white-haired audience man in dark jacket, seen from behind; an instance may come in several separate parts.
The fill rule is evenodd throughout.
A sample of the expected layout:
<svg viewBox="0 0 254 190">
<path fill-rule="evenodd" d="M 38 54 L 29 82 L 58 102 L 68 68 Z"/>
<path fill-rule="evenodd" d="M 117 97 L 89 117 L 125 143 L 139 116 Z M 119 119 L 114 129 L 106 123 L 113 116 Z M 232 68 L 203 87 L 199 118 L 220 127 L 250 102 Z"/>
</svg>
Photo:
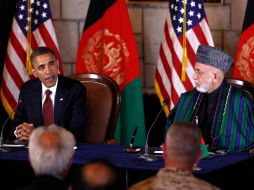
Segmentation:
<svg viewBox="0 0 254 190">
<path fill-rule="evenodd" d="M 74 136 L 62 127 L 50 125 L 33 130 L 28 152 L 35 177 L 22 190 L 67 190 L 64 178 L 72 163 L 74 146 Z"/>
</svg>

